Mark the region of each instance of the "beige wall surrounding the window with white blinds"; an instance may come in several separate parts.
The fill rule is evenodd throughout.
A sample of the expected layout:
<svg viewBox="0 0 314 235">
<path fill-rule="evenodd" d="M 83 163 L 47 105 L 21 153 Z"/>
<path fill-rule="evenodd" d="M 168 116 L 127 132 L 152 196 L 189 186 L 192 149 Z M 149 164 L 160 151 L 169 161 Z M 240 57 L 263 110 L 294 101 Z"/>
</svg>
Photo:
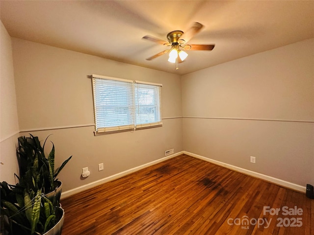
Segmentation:
<svg viewBox="0 0 314 235">
<path fill-rule="evenodd" d="M 60 174 L 63 190 L 155 161 L 167 149 L 183 150 L 179 75 L 17 38 L 12 43 L 21 135 L 31 133 L 44 140 L 53 134 L 49 140 L 56 148 L 56 164 L 73 155 Z M 93 73 L 162 83 L 163 126 L 95 137 L 91 79 L 87 78 Z M 104 171 L 98 171 L 99 163 L 104 163 Z M 91 175 L 81 179 L 85 166 Z"/>
</svg>

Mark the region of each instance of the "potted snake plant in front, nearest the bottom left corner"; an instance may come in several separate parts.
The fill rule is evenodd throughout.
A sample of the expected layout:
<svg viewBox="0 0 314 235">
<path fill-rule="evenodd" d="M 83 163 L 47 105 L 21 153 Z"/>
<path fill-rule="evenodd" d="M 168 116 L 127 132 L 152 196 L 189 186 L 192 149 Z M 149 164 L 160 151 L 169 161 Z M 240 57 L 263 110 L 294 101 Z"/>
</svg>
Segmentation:
<svg viewBox="0 0 314 235">
<path fill-rule="evenodd" d="M 9 235 L 61 235 L 64 210 L 41 190 L 1 182 L 0 209 Z"/>
</svg>

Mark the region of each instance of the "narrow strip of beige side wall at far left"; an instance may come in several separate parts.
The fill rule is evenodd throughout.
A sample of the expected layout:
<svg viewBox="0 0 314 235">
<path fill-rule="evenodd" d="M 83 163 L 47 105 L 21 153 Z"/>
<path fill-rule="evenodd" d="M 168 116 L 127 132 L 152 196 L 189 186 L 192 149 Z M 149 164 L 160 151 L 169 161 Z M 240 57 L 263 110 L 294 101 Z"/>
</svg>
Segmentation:
<svg viewBox="0 0 314 235">
<path fill-rule="evenodd" d="M 19 134 L 11 37 L 0 24 L 0 181 L 15 183 L 18 173 L 15 140 Z"/>
</svg>

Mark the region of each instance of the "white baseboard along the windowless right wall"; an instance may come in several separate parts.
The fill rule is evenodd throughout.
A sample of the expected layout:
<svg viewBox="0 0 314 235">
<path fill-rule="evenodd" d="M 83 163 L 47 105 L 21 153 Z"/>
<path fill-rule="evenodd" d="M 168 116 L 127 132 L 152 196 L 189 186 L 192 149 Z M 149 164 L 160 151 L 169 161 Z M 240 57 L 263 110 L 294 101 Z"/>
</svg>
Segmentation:
<svg viewBox="0 0 314 235">
<path fill-rule="evenodd" d="M 209 159 L 209 158 L 206 158 L 206 157 L 194 154 L 194 153 L 190 153 L 190 152 L 186 152 L 186 151 L 183 151 L 183 153 L 186 154 L 186 155 L 189 155 L 191 157 L 198 158 L 198 159 L 207 161 L 207 162 L 212 163 L 212 164 L 220 165 L 220 166 L 229 168 L 231 170 L 235 170 L 237 172 L 240 172 L 240 173 L 243 173 L 243 174 L 246 174 L 246 175 L 250 175 L 250 176 L 253 176 L 253 177 L 256 177 L 256 178 L 268 181 L 270 183 L 273 183 L 273 184 L 276 184 L 276 185 L 279 185 L 279 186 L 282 186 L 282 187 L 285 187 L 285 188 L 290 188 L 290 189 L 293 189 L 293 190 L 296 190 L 296 191 L 299 191 L 299 192 L 304 192 L 304 193 L 306 192 L 306 187 L 305 186 L 301 186 L 301 185 L 297 185 L 297 184 L 294 184 L 294 183 L 290 183 L 288 181 L 277 179 L 277 178 L 274 178 L 272 176 L 264 175 L 264 174 L 261 174 L 261 173 L 255 172 L 255 171 L 247 170 L 247 169 L 235 166 L 235 165 L 219 162 L 219 161 L 216 161 L 216 160 L 213 160 L 213 159 Z"/>
</svg>

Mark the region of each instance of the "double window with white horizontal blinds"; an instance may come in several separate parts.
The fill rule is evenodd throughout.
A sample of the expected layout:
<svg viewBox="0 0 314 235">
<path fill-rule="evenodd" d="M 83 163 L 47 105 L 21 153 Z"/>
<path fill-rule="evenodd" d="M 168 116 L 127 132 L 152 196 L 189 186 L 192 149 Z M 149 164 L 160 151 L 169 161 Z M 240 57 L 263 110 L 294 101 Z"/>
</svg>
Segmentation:
<svg viewBox="0 0 314 235">
<path fill-rule="evenodd" d="M 162 125 L 161 84 L 92 76 L 95 134 Z"/>
</svg>

